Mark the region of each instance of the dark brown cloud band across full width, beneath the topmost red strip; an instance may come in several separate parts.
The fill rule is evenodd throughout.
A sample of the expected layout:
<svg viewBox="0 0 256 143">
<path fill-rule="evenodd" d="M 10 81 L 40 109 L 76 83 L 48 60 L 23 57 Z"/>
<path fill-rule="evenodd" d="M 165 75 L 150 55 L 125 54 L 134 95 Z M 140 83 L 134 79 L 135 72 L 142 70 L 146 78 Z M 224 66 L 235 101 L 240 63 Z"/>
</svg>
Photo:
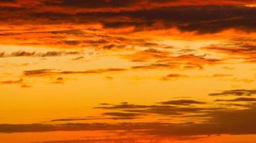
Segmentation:
<svg viewBox="0 0 256 143">
<path fill-rule="evenodd" d="M 138 3 L 133 0 L 129 2 L 102 0 L 101 3 L 95 3 L 94 1 L 83 1 L 81 3 L 76 1 L 62 1 L 60 3 L 53 2 L 53 5 L 118 7 L 134 4 L 134 2 L 136 4 Z M 135 31 L 177 28 L 180 31 L 196 31 L 198 34 L 211 34 L 225 29 L 239 29 L 242 31 L 256 30 L 256 11 L 254 8 L 247 6 L 160 6 L 154 9 L 137 9 L 134 11 L 86 11 L 76 14 L 58 13 L 56 11 L 40 13 L 19 9 L 19 11 L 22 11 L 21 14 L 23 14 L 21 16 L 14 16 L 9 12 L 10 10 L 3 9 L 2 11 L 5 14 L 4 16 L 0 16 L 0 19 L 5 19 L 5 23 L 12 24 L 15 24 L 15 21 L 22 21 L 22 23 L 31 22 L 34 24 L 99 23 L 106 29 L 129 26 L 134 26 Z M 24 13 L 28 14 L 24 15 Z"/>
</svg>

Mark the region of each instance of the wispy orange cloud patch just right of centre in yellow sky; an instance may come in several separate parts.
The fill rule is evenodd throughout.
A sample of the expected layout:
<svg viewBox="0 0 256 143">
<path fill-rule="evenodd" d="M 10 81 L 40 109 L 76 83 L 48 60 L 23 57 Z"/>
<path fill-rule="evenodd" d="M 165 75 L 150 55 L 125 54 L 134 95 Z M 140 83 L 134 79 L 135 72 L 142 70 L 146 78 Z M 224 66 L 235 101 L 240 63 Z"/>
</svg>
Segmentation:
<svg viewBox="0 0 256 143">
<path fill-rule="evenodd" d="M 140 66 L 132 66 L 132 69 L 203 69 L 204 65 L 221 64 L 221 59 L 207 58 L 194 54 L 179 56 L 170 55 L 170 52 L 139 51 L 135 54 L 123 56 L 134 62 L 143 63 Z M 151 62 L 152 64 L 148 64 Z"/>
</svg>

